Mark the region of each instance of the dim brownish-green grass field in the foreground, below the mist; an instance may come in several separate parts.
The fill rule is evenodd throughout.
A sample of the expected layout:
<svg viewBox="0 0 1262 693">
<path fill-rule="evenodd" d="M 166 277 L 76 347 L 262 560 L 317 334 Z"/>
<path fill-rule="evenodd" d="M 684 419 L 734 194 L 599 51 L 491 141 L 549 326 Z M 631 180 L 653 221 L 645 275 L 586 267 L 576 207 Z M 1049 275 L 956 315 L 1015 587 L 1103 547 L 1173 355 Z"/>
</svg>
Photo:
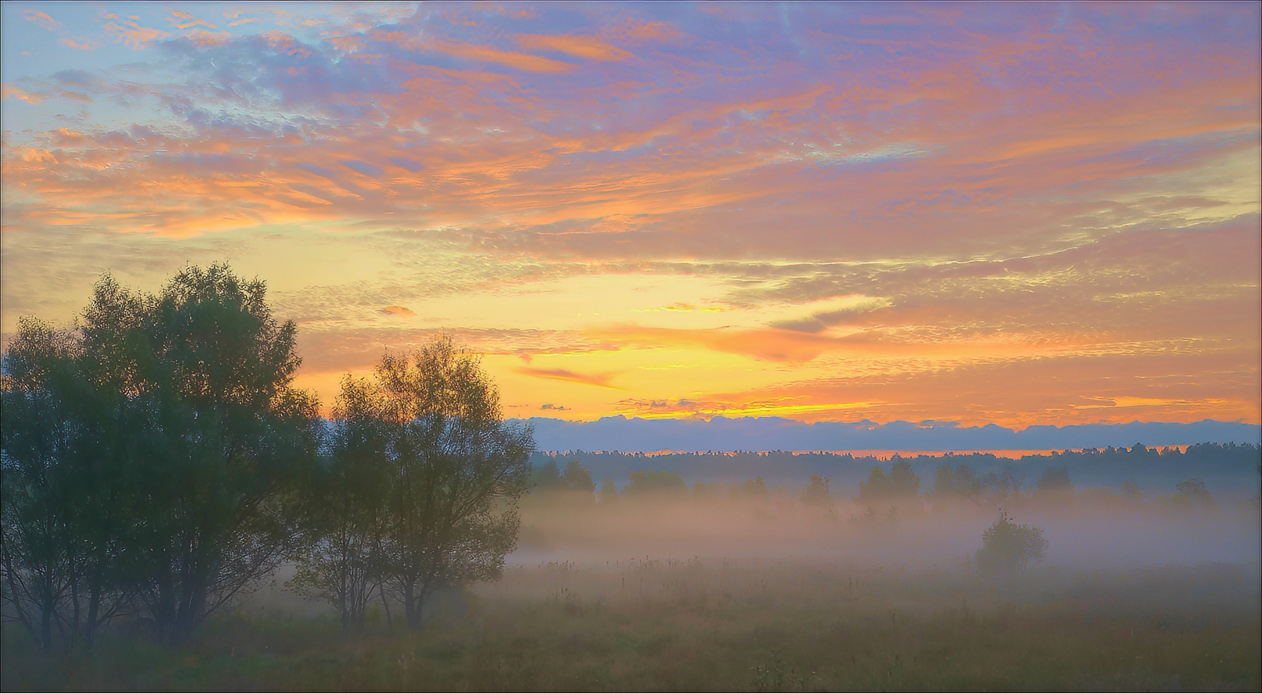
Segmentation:
<svg viewBox="0 0 1262 693">
<path fill-rule="evenodd" d="M 419 635 L 343 636 L 266 606 L 182 648 L 116 624 L 42 658 L 5 626 L 10 689 L 1257 690 L 1257 567 L 1047 568 L 650 558 L 517 566 L 448 592 Z M 273 610 L 274 611 L 274 610 Z"/>
</svg>

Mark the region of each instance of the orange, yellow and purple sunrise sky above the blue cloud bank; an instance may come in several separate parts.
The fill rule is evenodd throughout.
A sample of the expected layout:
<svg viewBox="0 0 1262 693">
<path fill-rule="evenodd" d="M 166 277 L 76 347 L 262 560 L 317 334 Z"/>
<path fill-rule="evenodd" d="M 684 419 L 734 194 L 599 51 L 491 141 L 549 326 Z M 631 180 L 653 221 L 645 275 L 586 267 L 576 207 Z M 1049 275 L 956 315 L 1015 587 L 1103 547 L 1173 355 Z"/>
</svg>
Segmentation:
<svg viewBox="0 0 1262 693">
<path fill-rule="evenodd" d="M 228 261 L 326 406 L 1262 419 L 1257 3 L 0 11 L 5 335 Z"/>
</svg>

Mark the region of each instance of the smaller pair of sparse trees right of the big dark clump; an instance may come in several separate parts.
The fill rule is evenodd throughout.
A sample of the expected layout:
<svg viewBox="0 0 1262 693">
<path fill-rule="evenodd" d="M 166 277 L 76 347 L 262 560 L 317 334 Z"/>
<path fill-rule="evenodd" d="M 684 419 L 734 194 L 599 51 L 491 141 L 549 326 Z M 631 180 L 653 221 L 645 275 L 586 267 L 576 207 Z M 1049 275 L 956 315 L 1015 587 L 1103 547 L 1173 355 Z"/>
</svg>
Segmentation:
<svg viewBox="0 0 1262 693">
<path fill-rule="evenodd" d="M 422 627 L 435 589 L 498 577 L 516 545 L 530 483 L 530 430 L 506 424 L 477 358 L 439 337 L 386 353 L 347 379 L 334 412 L 326 494 L 342 494 L 303 557 L 295 586 L 362 624 L 374 588 Z"/>
</svg>

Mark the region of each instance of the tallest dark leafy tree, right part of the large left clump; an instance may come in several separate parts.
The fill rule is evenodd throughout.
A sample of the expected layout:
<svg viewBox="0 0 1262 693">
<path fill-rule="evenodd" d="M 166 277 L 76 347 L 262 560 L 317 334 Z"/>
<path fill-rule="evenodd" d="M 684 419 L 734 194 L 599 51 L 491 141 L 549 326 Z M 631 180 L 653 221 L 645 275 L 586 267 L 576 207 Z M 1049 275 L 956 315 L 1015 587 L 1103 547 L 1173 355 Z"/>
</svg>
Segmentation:
<svg viewBox="0 0 1262 693">
<path fill-rule="evenodd" d="M 262 281 L 186 268 L 151 300 L 135 364 L 160 435 L 143 456 L 149 567 L 140 600 L 173 640 L 276 568 L 294 533 L 285 501 L 316 451 L 316 403 L 290 385 L 293 322 Z"/>
</svg>

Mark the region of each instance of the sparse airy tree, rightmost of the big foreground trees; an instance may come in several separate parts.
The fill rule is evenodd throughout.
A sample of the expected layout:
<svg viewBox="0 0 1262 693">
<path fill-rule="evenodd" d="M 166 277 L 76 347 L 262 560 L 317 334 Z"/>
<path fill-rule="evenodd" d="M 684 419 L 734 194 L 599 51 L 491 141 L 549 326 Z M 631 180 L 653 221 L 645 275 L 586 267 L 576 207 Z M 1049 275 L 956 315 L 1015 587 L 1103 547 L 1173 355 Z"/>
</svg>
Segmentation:
<svg viewBox="0 0 1262 693">
<path fill-rule="evenodd" d="M 534 441 L 502 420 L 477 357 L 448 337 L 386 353 L 375 375 L 389 459 L 381 571 L 419 630 L 435 589 L 502 574 Z"/>
</svg>

